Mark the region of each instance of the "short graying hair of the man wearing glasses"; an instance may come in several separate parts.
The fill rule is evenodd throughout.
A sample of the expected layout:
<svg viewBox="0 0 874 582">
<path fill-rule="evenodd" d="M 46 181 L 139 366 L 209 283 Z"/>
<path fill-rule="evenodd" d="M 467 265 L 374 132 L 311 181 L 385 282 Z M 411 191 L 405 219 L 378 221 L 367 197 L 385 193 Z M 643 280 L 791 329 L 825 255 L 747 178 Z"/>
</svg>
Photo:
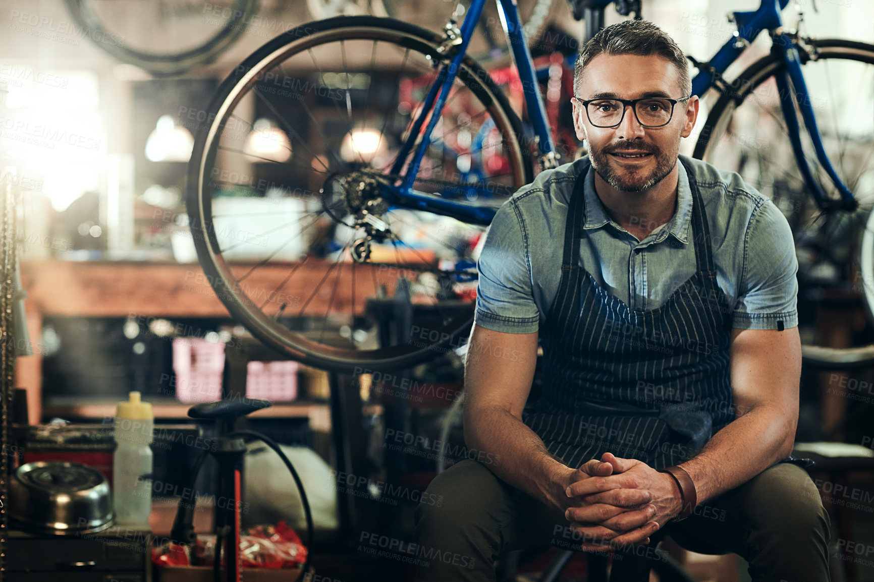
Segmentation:
<svg viewBox="0 0 874 582">
<path fill-rule="evenodd" d="M 678 97 L 688 97 L 692 93 L 689 78 L 689 63 L 686 55 L 676 45 L 673 38 L 649 20 L 623 20 L 601 29 L 587 42 L 577 55 L 573 70 L 573 92 L 579 94 L 579 83 L 583 69 L 600 54 L 636 54 L 641 57 L 658 55 L 676 65 L 680 92 Z"/>
</svg>

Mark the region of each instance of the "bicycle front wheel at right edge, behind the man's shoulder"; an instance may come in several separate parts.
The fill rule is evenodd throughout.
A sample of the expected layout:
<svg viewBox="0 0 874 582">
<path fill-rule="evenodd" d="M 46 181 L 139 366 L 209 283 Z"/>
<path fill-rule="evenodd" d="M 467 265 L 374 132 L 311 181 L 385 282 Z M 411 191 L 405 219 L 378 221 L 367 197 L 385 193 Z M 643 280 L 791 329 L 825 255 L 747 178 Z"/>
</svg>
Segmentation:
<svg viewBox="0 0 874 582">
<path fill-rule="evenodd" d="M 808 364 L 830 368 L 874 362 L 871 324 L 843 338 L 817 336 L 822 319 L 835 309 L 858 305 L 856 319 L 871 322 L 871 253 L 855 260 L 859 243 L 874 245 L 865 221 L 874 206 L 874 45 L 839 40 L 805 39 L 799 46 L 801 68 L 814 107 L 822 142 L 837 174 L 859 202 L 857 211 L 823 213 L 815 204 L 788 140 L 775 75 L 785 74 L 773 54 L 753 63 L 731 92 L 719 97 L 697 139 L 694 156 L 721 170 L 738 172 L 770 197 L 792 227 L 799 261 L 799 323 Z M 807 128 L 798 111 L 805 156 L 829 197 L 836 188 L 817 162 Z M 869 227 L 870 228 L 870 227 Z M 867 295 L 867 301 L 865 301 Z M 819 320 L 819 323 L 817 323 Z M 864 322 L 863 322 L 864 323 Z"/>
</svg>

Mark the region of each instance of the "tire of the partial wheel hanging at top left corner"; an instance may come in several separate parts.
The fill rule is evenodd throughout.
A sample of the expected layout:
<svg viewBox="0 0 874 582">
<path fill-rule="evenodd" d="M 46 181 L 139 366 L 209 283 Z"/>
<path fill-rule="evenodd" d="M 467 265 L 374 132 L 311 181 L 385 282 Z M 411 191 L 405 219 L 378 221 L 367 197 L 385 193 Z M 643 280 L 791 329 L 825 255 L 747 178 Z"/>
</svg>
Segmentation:
<svg viewBox="0 0 874 582">
<path fill-rule="evenodd" d="M 206 65 L 218 58 L 222 52 L 235 43 L 246 31 L 246 23 L 258 11 L 257 0 L 235 0 L 227 22 L 212 38 L 203 44 L 181 52 L 144 52 L 129 48 L 121 42 L 100 42 L 97 38 L 115 38 L 105 30 L 100 18 L 88 6 L 89 0 L 66 0 L 67 11 L 83 29 L 88 37 L 101 50 L 108 52 L 123 63 L 139 66 L 156 76 L 174 76 Z"/>
</svg>

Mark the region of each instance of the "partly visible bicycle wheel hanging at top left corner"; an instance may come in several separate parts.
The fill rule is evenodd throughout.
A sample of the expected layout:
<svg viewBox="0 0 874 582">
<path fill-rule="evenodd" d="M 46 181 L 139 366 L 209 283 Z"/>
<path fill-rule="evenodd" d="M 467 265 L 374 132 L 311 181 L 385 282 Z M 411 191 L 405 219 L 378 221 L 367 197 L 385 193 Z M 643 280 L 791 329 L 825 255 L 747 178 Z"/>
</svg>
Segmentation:
<svg viewBox="0 0 874 582">
<path fill-rule="evenodd" d="M 215 60 L 246 30 L 257 0 L 191 4 L 166 0 L 66 0 L 94 44 L 155 75 L 178 75 Z M 109 31 L 108 23 L 127 26 Z M 154 50 L 160 46 L 161 51 Z"/>
</svg>

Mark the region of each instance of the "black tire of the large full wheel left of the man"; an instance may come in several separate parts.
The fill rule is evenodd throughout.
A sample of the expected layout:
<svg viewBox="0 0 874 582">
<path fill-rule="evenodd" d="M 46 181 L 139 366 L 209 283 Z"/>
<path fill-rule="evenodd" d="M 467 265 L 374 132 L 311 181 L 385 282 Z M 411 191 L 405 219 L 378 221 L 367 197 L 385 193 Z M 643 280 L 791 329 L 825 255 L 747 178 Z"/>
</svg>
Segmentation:
<svg viewBox="0 0 874 582">
<path fill-rule="evenodd" d="M 246 95 L 258 93 L 255 89 L 259 77 L 264 77 L 264 74 L 273 70 L 275 66 L 280 66 L 282 63 L 288 63 L 292 59 L 301 57 L 301 55 L 313 54 L 318 52 L 320 47 L 323 47 L 327 52 L 331 43 L 352 43 L 357 38 L 376 39 L 373 40 L 373 52 L 376 53 L 376 46 L 382 43 L 398 52 L 405 52 L 406 55 L 416 52 L 417 58 L 422 59 L 422 62 L 430 63 L 427 57 L 430 55 L 433 58 L 438 57 L 436 52 L 437 46 L 440 45 L 440 36 L 434 32 L 426 31 L 413 24 L 395 21 L 388 18 L 378 17 L 336 17 L 328 20 L 319 21 L 316 23 L 306 24 L 297 27 L 291 31 L 285 32 L 273 40 L 267 42 L 256 52 L 246 59 L 241 65 L 234 69 L 234 72 L 221 84 L 217 94 L 212 99 L 212 103 L 207 107 L 209 112 L 206 117 L 210 121 L 204 124 L 198 130 L 196 136 L 194 150 L 189 164 L 189 177 L 186 192 L 186 207 L 191 219 L 191 233 L 194 239 L 195 247 L 198 253 L 198 260 L 207 275 L 207 281 L 210 282 L 212 288 L 218 294 L 219 299 L 225 303 L 225 307 L 231 315 L 248 329 L 253 336 L 256 336 L 260 341 L 271 346 L 275 350 L 286 354 L 288 357 L 301 361 L 305 364 L 313 365 L 319 368 L 334 370 L 334 371 L 360 371 L 366 367 L 374 370 L 388 370 L 399 367 L 406 367 L 413 364 L 418 364 L 431 359 L 437 355 L 441 346 L 445 346 L 454 340 L 455 337 L 464 333 L 469 329 L 473 319 L 473 304 L 462 301 L 460 306 L 461 315 L 444 316 L 440 315 L 440 325 L 434 324 L 434 327 L 429 328 L 427 339 L 419 338 L 415 342 L 402 342 L 389 345 L 387 347 L 356 349 L 346 347 L 334 347 L 327 345 L 320 337 L 319 341 L 312 339 L 313 333 L 307 336 L 303 331 L 292 331 L 284 328 L 279 322 L 274 321 L 274 316 L 279 319 L 281 315 L 267 315 L 262 311 L 262 308 L 255 308 L 254 303 L 241 288 L 237 277 L 232 273 L 232 266 L 225 260 L 221 246 L 216 235 L 216 228 L 213 223 L 212 216 L 212 191 L 210 189 L 210 176 L 212 171 L 217 167 L 217 155 L 221 146 L 222 134 L 225 129 L 225 123 L 232 119 L 234 107 L 237 107 L 243 102 Z M 342 40 L 341 40 L 342 39 Z M 345 49 L 344 49 L 345 51 Z M 343 55 L 346 55 L 343 52 Z M 348 55 L 354 56 L 353 52 Z M 303 58 L 303 57 L 301 57 Z M 314 63 L 315 56 L 312 57 Z M 375 57 L 374 57 L 375 59 Z M 407 57 L 404 57 L 406 65 Z M 343 58 L 345 62 L 345 56 Z M 371 61 L 371 66 L 373 62 Z M 430 67 L 430 65 L 428 65 Z M 322 73 L 321 79 L 324 80 L 324 73 L 319 67 L 319 72 Z M 284 72 L 284 74 L 288 74 Z M 350 79 L 349 73 L 345 79 Z M 527 184 L 532 177 L 531 152 L 522 147 L 517 139 L 517 136 L 523 135 L 521 121 L 513 113 L 506 98 L 501 93 L 500 89 L 495 86 L 494 82 L 480 66 L 472 59 L 466 58 L 462 62 L 462 66 L 458 73 L 458 79 L 461 82 L 460 87 L 466 89 L 469 94 L 473 95 L 476 100 L 482 104 L 481 114 L 488 114 L 489 119 L 494 121 L 496 131 L 500 135 L 500 147 L 502 151 L 507 153 L 508 176 L 503 178 L 510 183 L 502 186 L 509 197 L 512 191 L 515 191 L 519 186 Z M 400 76 L 400 75 L 399 75 Z M 397 85 L 397 83 L 396 83 Z M 255 87 L 255 88 L 253 88 Z M 249 92 L 249 93 L 247 93 Z M 347 103 L 349 102 L 349 93 L 347 92 Z M 368 93 L 369 95 L 369 93 Z M 252 96 L 255 99 L 255 96 Z M 263 97 L 262 97 L 263 99 Z M 451 98 L 450 98 L 451 99 Z M 305 101 L 296 101 L 305 106 Z M 335 107 L 336 103 L 334 104 Z M 295 106 L 296 107 L 296 106 Z M 308 113 L 312 116 L 312 113 Z M 351 109 L 349 109 L 351 112 Z M 388 109 L 392 112 L 391 107 Z M 444 114 L 441 112 L 441 115 Z M 477 114 L 479 116 L 479 114 Z M 386 120 L 389 119 L 389 114 L 386 114 Z M 313 121 L 316 121 L 313 117 Z M 405 121 L 406 122 L 406 121 Z M 387 123 L 387 121 L 386 121 Z M 485 122 L 483 122 L 485 125 Z M 253 127 L 250 123 L 249 126 Z M 407 129 L 409 126 L 407 126 Z M 457 126 L 456 126 L 457 128 Z M 295 135 L 294 128 L 288 135 Z M 384 124 L 383 130 L 386 131 Z M 285 131 L 285 130 L 283 130 Z M 321 133 L 321 128 L 318 128 Z M 382 135 L 382 134 L 380 134 Z M 298 137 L 301 135 L 299 134 Z M 326 135 L 322 135 L 321 141 L 329 142 Z M 387 138 L 386 138 L 387 139 Z M 380 138 L 381 140 L 381 138 Z M 432 145 L 434 142 L 432 142 Z M 494 143 L 490 143 L 494 145 Z M 295 145 L 295 148 L 306 149 L 310 146 L 308 142 L 301 142 Z M 312 146 L 315 147 L 315 146 Z M 430 151 L 430 149 L 429 149 Z M 484 151 L 484 150 L 483 150 Z M 336 157 L 336 156 L 335 156 Z M 304 165 L 309 170 L 317 170 L 314 165 L 319 159 L 315 154 L 310 158 L 309 154 L 303 156 L 304 160 L 310 159 Z M 339 158 L 336 158 L 339 161 Z M 326 155 L 325 161 L 333 163 Z M 364 160 L 362 160 L 364 162 Z M 325 166 L 325 171 L 321 172 L 327 175 L 325 183 L 334 176 L 329 175 L 328 167 Z M 420 174 L 421 175 L 421 174 Z M 319 177 L 321 180 L 322 178 Z M 437 181 L 438 187 L 442 188 L 444 183 Z M 316 200 L 318 204 L 322 204 L 324 210 L 328 210 L 326 198 L 329 198 L 328 191 L 334 188 L 333 184 L 329 188 L 324 188 L 320 191 L 321 197 Z M 313 189 L 315 191 L 316 188 Z M 498 189 L 496 188 L 496 191 Z M 311 202 L 311 201 L 310 201 Z M 330 201 L 330 204 L 334 204 Z M 480 204 L 476 202 L 475 204 Z M 328 212 L 328 216 L 340 221 L 335 217 L 333 211 L 339 208 L 340 205 L 331 206 L 332 211 Z M 320 211 L 321 212 L 321 211 Z M 418 215 L 417 215 L 418 216 Z M 314 218 L 315 221 L 315 218 Z M 331 225 L 334 228 L 342 226 Z M 320 240 L 323 237 L 320 237 Z M 393 241 L 392 241 L 393 245 Z M 339 257 L 345 252 L 345 247 L 337 254 L 337 263 L 341 267 L 337 268 L 336 281 L 339 281 L 339 272 L 344 263 L 339 263 Z M 397 252 L 397 247 L 395 249 Z M 303 262 L 309 260 L 309 252 L 303 259 Z M 302 263 L 300 263 L 302 265 Z M 312 262 L 310 264 L 313 264 Z M 407 266 L 406 262 L 398 263 L 400 268 Z M 316 266 L 323 270 L 326 266 Z M 320 272 L 321 273 L 321 272 Z M 319 281 L 319 285 L 330 272 L 324 274 L 323 279 Z M 352 263 L 352 287 L 355 287 L 355 264 Z M 247 275 L 246 275 L 247 276 Z M 245 278 L 245 277 L 244 277 Z M 288 281 L 288 280 L 287 280 Z M 337 283 L 335 283 L 336 285 Z M 364 283 L 362 283 L 364 285 Z M 377 281 L 374 279 L 373 288 L 377 289 Z M 335 288 L 336 292 L 336 288 Z M 309 305 L 309 300 L 316 294 L 316 289 L 310 294 L 309 299 L 303 305 L 299 314 L 303 313 L 304 309 Z M 334 301 L 334 294 L 330 295 L 328 308 L 331 307 Z M 353 319 L 357 315 L 355 308 L 355 299 L 353 294 L 352 309 Z M 265 303 L 265 305 L 267 305 Z M 438 303 L 438 308 L 440 303 Z M 262 306 L 263 307 L 263 306 Z M 271 306 L 274 307 L 274 306 Z M 284 307 L 279 308 L 278 313 L 283 313 Z M 284 315 L 282 315 L 284 316 Z M 327 324 L 328 314 L 326 312 L 324 322 Z M 324 331 L 324 330 L 323 330 Z M 342 331 L 342 329 L 341 329 Z M 434 333 L 430 333 L 434 332 Z M 436 336 L 434 336 L 436 334 Z M 423 341 L 424 340 L 424 341 Z"/>
</svg>

